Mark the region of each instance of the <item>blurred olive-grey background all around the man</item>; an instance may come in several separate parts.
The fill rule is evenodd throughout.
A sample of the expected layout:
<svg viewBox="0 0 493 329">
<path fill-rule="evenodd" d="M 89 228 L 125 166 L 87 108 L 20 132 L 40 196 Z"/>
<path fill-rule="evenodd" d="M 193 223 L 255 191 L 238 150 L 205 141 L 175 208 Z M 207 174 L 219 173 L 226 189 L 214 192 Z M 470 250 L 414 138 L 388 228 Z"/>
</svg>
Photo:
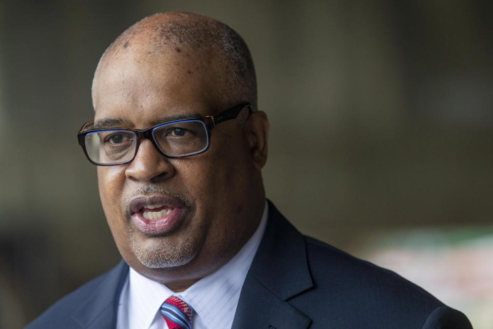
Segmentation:
<svg viewBox="0 0 493 329">
<path fill-rule="evenodd" d="M 0 327 L 120 260 L 75 133 L 116 36 L 183 10 L 250 46 L 267 194 L 303 233 L 493 327 L 493 12 L 481 1 L 0 2 Z"/>
</svg>

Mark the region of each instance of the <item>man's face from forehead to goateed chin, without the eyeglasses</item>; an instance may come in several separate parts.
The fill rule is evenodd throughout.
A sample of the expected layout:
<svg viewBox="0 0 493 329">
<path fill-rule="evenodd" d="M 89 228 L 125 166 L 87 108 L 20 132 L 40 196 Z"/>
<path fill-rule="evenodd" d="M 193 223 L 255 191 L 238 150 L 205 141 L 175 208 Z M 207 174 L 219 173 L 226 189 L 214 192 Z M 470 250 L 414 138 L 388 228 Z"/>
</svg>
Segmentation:
<svg viewBox="0 0 493 329">
<path fill-rule="evenodd" d="M 218 114 L 237 104 L 218 90 L 217 64 L 186 48 L 109 54 L 94 79 L 94 122 L 145 129 Z M 168 159 L 144 139 L 132 162 L 98 167 L 103 209 L 131 267 L 157 281 L 198 279 L 241 248 L 263 208 L 248 135 L 248 127 L 229 120 L 214 127 L 205 153 Z"/>
</svg>

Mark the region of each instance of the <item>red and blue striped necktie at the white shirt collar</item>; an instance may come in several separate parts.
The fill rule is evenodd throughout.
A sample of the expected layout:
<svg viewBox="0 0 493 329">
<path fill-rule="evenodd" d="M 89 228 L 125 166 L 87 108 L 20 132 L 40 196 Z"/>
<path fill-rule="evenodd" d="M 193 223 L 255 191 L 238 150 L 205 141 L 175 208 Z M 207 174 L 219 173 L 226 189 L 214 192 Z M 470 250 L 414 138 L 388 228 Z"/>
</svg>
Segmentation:
<svg viewBox="0 0 493 329">
<path fill-rule="evenodd" d="M 180 298 L 169 297 L 160 310 L 169 329 L 192 329 L 192 307 Z"/>
</svg>

